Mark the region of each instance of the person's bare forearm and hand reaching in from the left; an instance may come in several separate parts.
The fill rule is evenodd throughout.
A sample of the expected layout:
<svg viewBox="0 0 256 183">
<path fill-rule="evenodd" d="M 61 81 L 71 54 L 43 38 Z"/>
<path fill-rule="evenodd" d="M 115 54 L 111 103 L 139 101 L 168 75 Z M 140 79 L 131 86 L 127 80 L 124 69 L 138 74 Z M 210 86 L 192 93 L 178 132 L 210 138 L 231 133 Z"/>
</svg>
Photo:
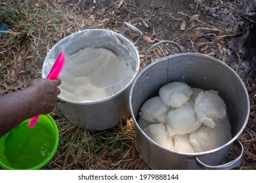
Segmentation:
<svg viewBox="0 0 256 183">
<path fill-rule="evenodd" d="M 0 97 L 0 137 L 22 121 L 51 112 L 58 100 L 61 81 L 36 78 L 28 88 Z"/>
</svg>

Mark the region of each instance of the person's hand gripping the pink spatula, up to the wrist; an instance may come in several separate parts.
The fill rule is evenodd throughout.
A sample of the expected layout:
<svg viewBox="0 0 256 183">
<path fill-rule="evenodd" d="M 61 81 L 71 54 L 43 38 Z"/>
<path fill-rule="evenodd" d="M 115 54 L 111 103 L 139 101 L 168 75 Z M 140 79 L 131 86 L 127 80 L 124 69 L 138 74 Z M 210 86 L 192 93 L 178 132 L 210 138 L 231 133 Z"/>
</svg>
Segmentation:
<svg viewBox="0 0 256 183">
<path fill-rule="evenodd" d="M 51 112 L 58 101 L 60 89 L 58 86 L 61 80 L 47 80 L 36 78 L 28 86 L 30 95 L 33 99 L 33 110 L 35 114 L 47 114 Z"/>
</svg>

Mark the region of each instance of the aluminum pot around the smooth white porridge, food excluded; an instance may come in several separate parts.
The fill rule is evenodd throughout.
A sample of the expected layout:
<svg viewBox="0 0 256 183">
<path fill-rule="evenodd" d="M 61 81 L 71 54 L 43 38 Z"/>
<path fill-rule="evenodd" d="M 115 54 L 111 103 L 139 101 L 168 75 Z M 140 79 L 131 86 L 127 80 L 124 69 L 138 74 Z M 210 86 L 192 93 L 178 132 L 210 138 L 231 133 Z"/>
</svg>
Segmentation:
<svg viewBox="0 0 256 183">
<path fill-rule="evenodd" d="M 47 54 L 43 63 L 43 78 L 46 78 L 51 65 L 53 65 L 49 61 L 56 59 L 61 51 L 64 51 L 65 56 L 68 57 L 87 47 L 106 48 L 117 56 L 131 61 L 131 66 L 134 70 L 132 79 L 121 91 L 110 97 L 100 101 L 74 102 L 58 96 L 60 100 L 58 106 L 64 117 L 71 124 L 82 129 L 103 130 L 114 127 L 119 124 L 120 120 L 124 120 L 131 115 L 129 112 L 129 92 L 139 73 L 140 58 L 136 44 L 142 37 L 142 33 L 133 25 L 125 22 L 122 34 L 125 33 L 126 27 L 139 34 L 137 41 L 131 42 L 123 35 L 106 29 L 86 29 L 65 37 L 55 44 Z"/>
</svg>

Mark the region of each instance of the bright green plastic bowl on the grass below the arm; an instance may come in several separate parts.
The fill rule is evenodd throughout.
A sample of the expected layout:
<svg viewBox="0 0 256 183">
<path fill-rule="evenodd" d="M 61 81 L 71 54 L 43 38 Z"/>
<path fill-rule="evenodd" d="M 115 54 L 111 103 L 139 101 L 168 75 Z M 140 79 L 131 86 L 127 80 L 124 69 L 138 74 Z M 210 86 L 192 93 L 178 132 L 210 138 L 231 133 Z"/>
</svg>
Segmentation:
<svg viewBox="0 0 256 183">
<path fill-rule="evenodd" d="M 36 170 L 53 158 L 58 147 L 58 127 L 49 115 L 40 115 L 34 127 L 25 120 L 0 138 L 0 167 Z"/>
</svg>

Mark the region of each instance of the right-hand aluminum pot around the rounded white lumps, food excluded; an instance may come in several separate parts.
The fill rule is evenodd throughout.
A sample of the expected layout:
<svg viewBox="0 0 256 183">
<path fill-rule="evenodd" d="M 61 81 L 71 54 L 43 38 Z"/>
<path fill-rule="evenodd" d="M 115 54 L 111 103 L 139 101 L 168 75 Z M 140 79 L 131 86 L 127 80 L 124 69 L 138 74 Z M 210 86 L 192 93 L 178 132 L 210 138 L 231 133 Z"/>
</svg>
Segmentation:
<svg viewBox="0 0 256 183">
<path fill-rule="evenodd" d="M 226 103 L 232 125 L 232 139 L 229 142 L 207 152 L 180 153 L 156 144 L 142 131 L 137 122 L 140 107 L 146 100 L 159 95 L 161 86 L 174 81 L 219 92 Z M 129 107 L 135 122 L 137 148 L 152 169 L 233 169 L 244 158 L 244 148 L 238 137 L 249 118 L 249 96 L 241 78 L 218 59 L 202 54 L 181 53 L 151 63 L 133 83 Z M 238 146 L 241 154 L 223 165 L 232 144 Z"/>
</svg>

